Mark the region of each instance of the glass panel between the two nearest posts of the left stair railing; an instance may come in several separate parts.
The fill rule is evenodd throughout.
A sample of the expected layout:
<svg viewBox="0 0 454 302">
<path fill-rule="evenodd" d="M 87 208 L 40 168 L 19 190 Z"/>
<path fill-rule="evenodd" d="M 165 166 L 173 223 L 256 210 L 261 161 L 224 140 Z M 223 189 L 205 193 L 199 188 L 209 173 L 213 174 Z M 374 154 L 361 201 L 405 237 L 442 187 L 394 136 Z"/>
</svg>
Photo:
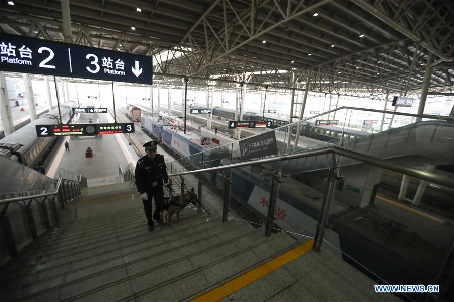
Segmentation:
<svg viewBox="0 0 454 302">
<path fill-rule="evenodd" d="M 18 250 L 27 245 L 32 239 L 27 215 L 25 213 L 26 204 L 26 201 L 18 201 L 12 202 L 8 206 L 8 218 Z"/>
</svg>

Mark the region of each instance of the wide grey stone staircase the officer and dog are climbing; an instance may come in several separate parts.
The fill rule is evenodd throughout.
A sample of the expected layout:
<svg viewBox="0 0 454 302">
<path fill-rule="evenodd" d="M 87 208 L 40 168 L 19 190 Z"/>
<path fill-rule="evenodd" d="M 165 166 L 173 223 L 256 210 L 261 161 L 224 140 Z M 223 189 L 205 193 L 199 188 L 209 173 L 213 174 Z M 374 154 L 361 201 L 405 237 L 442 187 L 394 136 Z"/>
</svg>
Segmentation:
<svg viewBox="0 0 454 302">
<path fill-rule="evenodd" d="M 4 301 L 398 301 L 328 250 L 218 215 L 147 230 L 135 188 L 88 188 L 2 267 Z M 247 280 L 247 281 L 244 281 Z"/>
</svg>

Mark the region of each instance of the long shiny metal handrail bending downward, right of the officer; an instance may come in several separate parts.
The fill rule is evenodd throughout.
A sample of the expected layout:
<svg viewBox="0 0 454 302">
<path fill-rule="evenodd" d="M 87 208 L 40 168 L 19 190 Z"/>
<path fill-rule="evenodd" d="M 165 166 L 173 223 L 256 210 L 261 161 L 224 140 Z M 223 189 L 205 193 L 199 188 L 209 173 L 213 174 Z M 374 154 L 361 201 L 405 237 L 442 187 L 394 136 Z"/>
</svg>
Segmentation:
<svg viewBox="0 0 454 302">
<path fill-rule="evenodd" d="M 195 173 L 203 173 L 203 172 L 217 171 L 217 170 L 228 170 L 228 169 L 240 168 L 240 167 L 245 167 L 245 166 L 250 166 L 250 165 L 267 164 L 267 163 L 287 161 L 287 160 L 293 160 L 293 159 L 298 159 L 298 158 L 305 158 L 305 157 L 326 155 L 326 154 L 335 154 L 335 155 L 345 156 L 350 159 L 354 159 L 354 160 L 357 160 L 357 161 L 360 161 L 363 163 L 368 163 L 368 164 L 378 166 L 378 167 L 381 167 L 381 168 L 384 168 L 387 170 L 391 170 L 394 172 L 400 172 L 400 173 L 406 174 L 408 176 L 426 180 L 430 183 L 435 183 L 435 184 L 439 184 L 439 185 L 442 185 L 445 187 L 454 188 L 454 179 L 447 178 L 444 175 L 436 174 L 433 172 L 422 171 L 422 170 L 418 170 L 416 168 L 412 168 L 412 167 L 408 167 L 408 166 L 398 165 L 398 164 L 395 164 L 395 163 L 387 161 L 387 160 L 378 159 L 378 158 L 375 158 L 375 157 L 372 157 L 369 155 L 365 155 L 362 153 L 354 152 L 351 150 L 347 150 L 347 149 L 339 148 L 339 147 L 335 147 L 335 146 L 324 147 L 324 148 L 320 148 L 320 149 L 316 149 L 316 150 L 308 150 L 308 151 L 304 151 L 301 153 L 281 155 L 281 156 L 276 156 L 276 157 L 267 158 L 267 159 L 260 159 L 260 160 L 254 160 L 254 161 L 248 161 L 248 162 L 229 164 L 229 165 L 224 165 L 221 167 L 212 167 L 212 168 L 204 168 L 204 169 L 193 170 L 193 171 L 185 171 L 185 172 L 180 172 L 180 173 L 169 174 L 169 176 L 195 174 Z"/>
</svg>

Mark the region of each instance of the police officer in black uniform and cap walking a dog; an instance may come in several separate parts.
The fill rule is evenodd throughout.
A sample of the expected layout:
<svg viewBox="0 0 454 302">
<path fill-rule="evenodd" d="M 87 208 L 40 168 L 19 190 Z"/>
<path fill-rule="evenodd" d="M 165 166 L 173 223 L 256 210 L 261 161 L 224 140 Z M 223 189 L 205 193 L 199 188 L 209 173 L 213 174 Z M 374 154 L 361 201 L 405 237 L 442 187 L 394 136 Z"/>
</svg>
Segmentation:
<svg viewBox="0 0 454 302">
<path fill-rule="evenodd" d="M 141 194 L 143 207 L 148 219 L 148 230 L 153 231 L 153 218 L 159 224 L 163 224 L 160 214 L 164 209 L 164 189 L 162 185 L 168 185 L 167 167 L 164 163 L 164 156 L 157 154 L 157 141 L 149 141 L 143 146 L 146 155 L 137 161 L 136 165 L 136 186 Z M 156 206 L 152 213 L 151 199 L 154 197 Z"/>
</svg>

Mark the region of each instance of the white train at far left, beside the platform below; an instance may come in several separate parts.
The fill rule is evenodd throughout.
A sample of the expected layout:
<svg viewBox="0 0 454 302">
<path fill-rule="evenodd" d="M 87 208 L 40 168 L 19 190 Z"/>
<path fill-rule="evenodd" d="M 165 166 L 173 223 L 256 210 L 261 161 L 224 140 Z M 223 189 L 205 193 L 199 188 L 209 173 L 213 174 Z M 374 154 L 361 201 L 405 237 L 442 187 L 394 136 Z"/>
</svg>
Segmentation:
<svg viewBox="0 0 454 302">
<path fill-rule="evenodd" d="M 77 107 L 73 101 L 60 106 L 63 123 L 68 123 L 73 117 L 73 107 Z M 49 153 L 58 137 L 37 137 L 35 125 L 58 123 L 60 123 L 58 108 L 53 109 L 50 113 L 42 114 L 34 121 L 1 139 L 0 155 L 29 167 L 38 165 Z"/>
</svg>

